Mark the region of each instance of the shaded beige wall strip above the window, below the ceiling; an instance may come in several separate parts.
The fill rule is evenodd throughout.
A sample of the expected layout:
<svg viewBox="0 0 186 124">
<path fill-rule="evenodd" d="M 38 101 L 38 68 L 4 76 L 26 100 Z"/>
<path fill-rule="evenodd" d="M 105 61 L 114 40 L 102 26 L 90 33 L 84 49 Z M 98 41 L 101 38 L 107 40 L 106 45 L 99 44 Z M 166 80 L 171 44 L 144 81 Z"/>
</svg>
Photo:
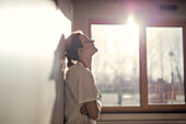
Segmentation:
<svg viewBox="0 0 186 124">
<path fill-rule="evenodd" d="M 162 11 L 160 4 L 176 4 L 177 11 Z M 88 34 L 88 20 L 124 21 L 129 14 L 140 19 L 186 19 L 184 0 L 77 0 L 73 2 L 72 31 Z"/>
</svg>

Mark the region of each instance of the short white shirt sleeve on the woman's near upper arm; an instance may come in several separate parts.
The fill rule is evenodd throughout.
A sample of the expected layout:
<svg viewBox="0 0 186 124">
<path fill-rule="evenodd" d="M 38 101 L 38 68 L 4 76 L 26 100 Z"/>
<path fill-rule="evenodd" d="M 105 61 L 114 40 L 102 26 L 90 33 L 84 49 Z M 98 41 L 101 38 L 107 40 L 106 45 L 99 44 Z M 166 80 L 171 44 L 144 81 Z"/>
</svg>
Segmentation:
<svg viewBox="0 0 186 124">
<path fill-rule="evenodd" d="M 78 103 L 90 102 L 97 99 L 98 90 L 91 71 L 85 68 L 78 68 L 68 72 L 67 77 L 72 97 Z"/>
</svg>

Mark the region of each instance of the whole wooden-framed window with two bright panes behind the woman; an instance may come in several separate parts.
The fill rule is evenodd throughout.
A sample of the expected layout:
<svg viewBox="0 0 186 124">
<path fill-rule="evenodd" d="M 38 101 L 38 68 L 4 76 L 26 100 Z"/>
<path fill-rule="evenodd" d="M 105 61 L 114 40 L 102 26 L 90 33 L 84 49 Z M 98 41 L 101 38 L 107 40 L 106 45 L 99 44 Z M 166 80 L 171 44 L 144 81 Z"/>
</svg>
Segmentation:
<svg viewBox="0 0 186 124">
<path fill-rule="evenodd" d="M 186 110 L 184 27 L 179 21 L 89 21 L 103 112 Z"/>
</svg>

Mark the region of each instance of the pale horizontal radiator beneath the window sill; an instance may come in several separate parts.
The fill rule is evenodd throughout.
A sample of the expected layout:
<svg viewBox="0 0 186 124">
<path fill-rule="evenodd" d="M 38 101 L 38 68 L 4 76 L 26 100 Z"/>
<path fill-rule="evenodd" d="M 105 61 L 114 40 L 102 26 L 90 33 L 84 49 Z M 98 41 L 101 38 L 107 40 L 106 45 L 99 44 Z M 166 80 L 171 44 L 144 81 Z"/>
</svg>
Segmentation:
<svg viewBox="0 0 186 124">
<path fill-rule="evenodd" d="M 186 124 L 186 113 L 101 114 L 97 124 Z"/>
</svg>

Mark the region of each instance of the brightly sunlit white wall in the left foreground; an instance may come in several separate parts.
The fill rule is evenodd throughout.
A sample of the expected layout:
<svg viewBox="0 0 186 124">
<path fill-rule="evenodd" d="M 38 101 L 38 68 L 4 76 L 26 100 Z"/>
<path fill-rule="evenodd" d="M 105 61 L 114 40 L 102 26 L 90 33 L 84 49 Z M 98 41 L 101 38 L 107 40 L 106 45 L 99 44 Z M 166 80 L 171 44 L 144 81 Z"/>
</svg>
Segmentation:
<svg viewBox="0 0 186 124">
<path fill-rule="evenodd" d="M 50 124 L 54 50 L 69 21 L 49 0 L 0 1 L 0 124 Z"/>
</svg>

